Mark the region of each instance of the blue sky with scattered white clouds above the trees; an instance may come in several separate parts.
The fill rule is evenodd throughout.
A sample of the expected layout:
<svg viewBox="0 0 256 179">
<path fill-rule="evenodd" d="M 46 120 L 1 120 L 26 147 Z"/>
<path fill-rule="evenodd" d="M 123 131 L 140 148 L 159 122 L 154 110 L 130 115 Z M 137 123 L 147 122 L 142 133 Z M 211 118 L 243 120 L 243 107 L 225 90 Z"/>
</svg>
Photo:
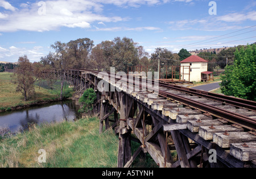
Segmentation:
<svg viewBox="0 0 256 179">
<path fill-rule="evenodd" d="M 55 41 L 133 39 L 148 53 L 256 41 L 254 0 L 0 0 L 0 61 L 40 61 Z"/>
</svg>

